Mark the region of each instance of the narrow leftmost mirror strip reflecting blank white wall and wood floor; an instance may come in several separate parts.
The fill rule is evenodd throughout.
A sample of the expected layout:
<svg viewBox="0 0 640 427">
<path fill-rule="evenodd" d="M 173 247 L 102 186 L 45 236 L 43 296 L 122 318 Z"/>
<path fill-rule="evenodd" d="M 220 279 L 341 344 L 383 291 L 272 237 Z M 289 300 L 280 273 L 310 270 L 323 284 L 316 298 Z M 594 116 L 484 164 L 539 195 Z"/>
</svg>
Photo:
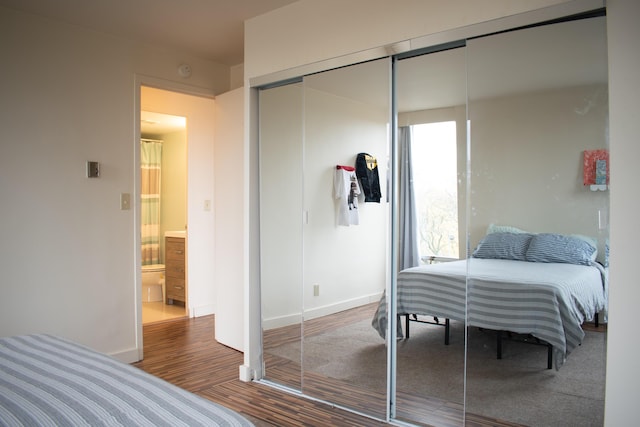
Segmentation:
<svg viewBox="0 0 640 427">
<path fill-rule="evenodd" d="M 302 388 L 303 88 L 259 91 L 260 287 L 265 379 Z"/>
</svg>

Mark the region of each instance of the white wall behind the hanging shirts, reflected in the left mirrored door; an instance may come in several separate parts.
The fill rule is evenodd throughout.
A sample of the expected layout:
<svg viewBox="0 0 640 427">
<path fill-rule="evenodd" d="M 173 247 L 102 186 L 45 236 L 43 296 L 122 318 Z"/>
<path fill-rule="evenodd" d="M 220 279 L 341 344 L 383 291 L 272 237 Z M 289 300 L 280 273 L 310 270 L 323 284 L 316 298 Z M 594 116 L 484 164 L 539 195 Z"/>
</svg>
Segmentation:
<svg viewBox="0 0 640 427">
<path fill-rule="evenodd" d="M 310 319 L 377 301 L 386 283 L 388 110 L 310 85 L 261 93 L 266 329 L 300 322 L 303 309 Z M 360 224 L 340 226 L 333 188 L 336 165 L 354 166 L 360 152 L 379 161 L 383 199 L 365 203 L 362 194 Z M 313 295 L 316 284 L 318 296 Z"/>
</svg>

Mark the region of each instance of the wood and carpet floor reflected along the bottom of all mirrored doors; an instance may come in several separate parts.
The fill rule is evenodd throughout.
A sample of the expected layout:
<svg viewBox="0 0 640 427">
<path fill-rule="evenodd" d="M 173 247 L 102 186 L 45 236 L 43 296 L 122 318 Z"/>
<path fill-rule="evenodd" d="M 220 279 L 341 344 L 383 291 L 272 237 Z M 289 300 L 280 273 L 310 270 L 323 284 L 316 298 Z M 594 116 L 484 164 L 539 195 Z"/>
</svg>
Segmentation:
<svg viewBox="0 0 640 427">
<path fill-rule="evenodd" d="M 386 362 L 382 359 L 386 351 L 370 324 L 375 309 L 375 304 L 363 306 L 305 321 L 304 328 L 295 325 L 263 331 L 266 377 L 361 413 L 376 417 L 384 414 Z M 601 355 L 606 335 L 602 332 L 606 328 L 584 326 L 589 331 L 584 345 L 571 354 L 570 363 L 560 371 L 546 369 L 546 348 L 540 346 L 509 342 L 505 344 L 508 348 L 503 359 L 497 361 L 495 332 L 470 330 L 467 410 L 475 414 L 465 414 L 461 403 L 462 375 L 460 378 L 446 375 L 452 371 L 449 365 L 456 363 L 460 366 L 453 371 L 463 372 L 464 326 L 457 325 L 458 329 L 463 328 L 460 330 L 453 328 L 452 342 L 445 346 L 441 328 L 412 325 L 411 339 L 398 343 L 396 417 L 404 421 L 420 420 L 419 425 L 465 422 L 475 426 L 521 425 L 504 420 L 520 420 L 527 425 L 561 425 L 561 421 L 540 421 L 540 424 L 535 420 L 539 414 L 542 419 L 561 419 L 565 416 L 563 411 L 572 408 L 577 411 L 572 418 L 582 421 L 588 418 L 581 425 L 601 425 L 604 378 L 598 375 L 604 372 Z M 300 345 L 302 329 L 304 353 Z M 346 352 L 346 347 L 351 351 Z M 345 357 L 347 353 L 351 356 Z M 411 360 L 424 360 L 425 365 L 409 363 Z M 306 367 L 302 376 L 301 361 Z M 458 382 L 460 390 L 456 393 Z M 527 385 L 523 388 L 523 384 Z M 451 397 L 450 391 L 459 398 Z M 505 396 L 516 392 L 518 396 L 528 396 L 525 403 L 506 403 Z M 538 406 L 532 414 L 526 402 L 533 401 Z M 476 415 L 479 413 L 487 415 Z M 589 419 L 593 422 L 589 423 Z"/>
</svg>

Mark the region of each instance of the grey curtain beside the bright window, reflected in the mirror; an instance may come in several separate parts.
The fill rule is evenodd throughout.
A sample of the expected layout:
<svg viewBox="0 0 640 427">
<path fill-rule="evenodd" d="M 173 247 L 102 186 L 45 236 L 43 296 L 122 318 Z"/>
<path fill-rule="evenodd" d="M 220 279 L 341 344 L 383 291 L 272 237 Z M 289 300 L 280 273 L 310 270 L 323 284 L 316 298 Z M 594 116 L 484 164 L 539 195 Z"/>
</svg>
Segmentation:
<svg viewBox="0 0 640 427">
<path fill-rule="evenodd" d="M 418 253 L 418 220 L 416 201 L 413 193 L 413 173 L 411 166 L 411 127 L 398 128 L 400 148 L 400 270 L 420 264 Z"/>
</svg>

